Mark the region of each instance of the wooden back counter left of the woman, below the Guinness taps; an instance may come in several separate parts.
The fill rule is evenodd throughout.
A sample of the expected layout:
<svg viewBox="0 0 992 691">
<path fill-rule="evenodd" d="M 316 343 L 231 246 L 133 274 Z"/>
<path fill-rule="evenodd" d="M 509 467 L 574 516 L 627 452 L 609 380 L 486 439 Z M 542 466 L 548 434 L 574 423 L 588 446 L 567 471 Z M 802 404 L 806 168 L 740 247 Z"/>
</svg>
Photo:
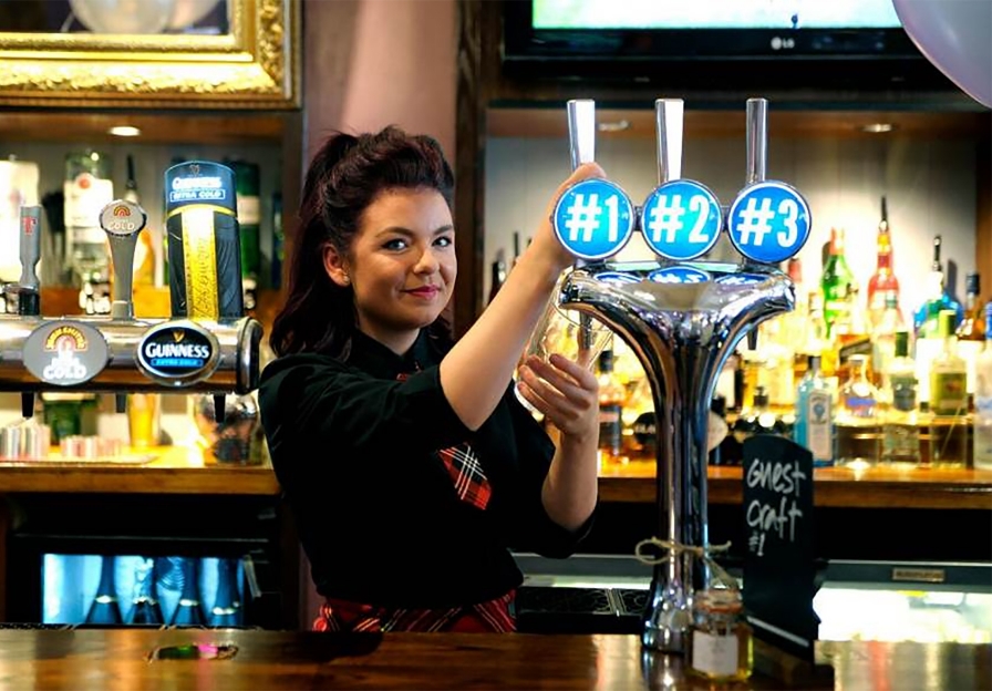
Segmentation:
<svg viewBox="0 0 992 691">
<path fill-rule="evenodd" d="M 269 466 L 205 464 L 198 448 L 185 446 L 161 446 L 148 453 L 154 458 L 142 464 L 2 461 L 0 494 L 279 494 L 279 483 Z"/>
</svg>

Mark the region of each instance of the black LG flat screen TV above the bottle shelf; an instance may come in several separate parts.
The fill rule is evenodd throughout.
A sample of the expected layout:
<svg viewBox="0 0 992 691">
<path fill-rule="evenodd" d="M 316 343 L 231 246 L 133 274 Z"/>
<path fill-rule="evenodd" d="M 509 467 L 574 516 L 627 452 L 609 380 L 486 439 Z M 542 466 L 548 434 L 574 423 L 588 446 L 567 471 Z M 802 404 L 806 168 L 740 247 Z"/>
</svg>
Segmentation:
<svg viewBox="0 0 992 691">
<path fill-rule="evenodd" d="M 892 0 L 504 0 L 503 20 L 512 78 L 952 89 Z"/>
</svg>

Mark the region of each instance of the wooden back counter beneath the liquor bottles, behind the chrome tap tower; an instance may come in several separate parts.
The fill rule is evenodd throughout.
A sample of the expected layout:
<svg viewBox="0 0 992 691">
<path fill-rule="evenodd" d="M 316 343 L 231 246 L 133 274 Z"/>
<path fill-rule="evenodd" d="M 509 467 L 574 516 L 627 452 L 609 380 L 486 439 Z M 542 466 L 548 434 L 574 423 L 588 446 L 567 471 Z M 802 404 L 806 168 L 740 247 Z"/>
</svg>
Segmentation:
<svg viewBox="0 0 992 691">
<path fill-rule="evenodd" d="M 600 472 L 603 502 L 654 503 L 655 463 L 632 461 Z M 743 468 L 710 466 L 711 504 L 741 504 Z M 942 467 L 825 467 L 814 471 L 814 502 L 824 507 L 976 508 L 992 510 L 992 471 Z"/>
</svg>

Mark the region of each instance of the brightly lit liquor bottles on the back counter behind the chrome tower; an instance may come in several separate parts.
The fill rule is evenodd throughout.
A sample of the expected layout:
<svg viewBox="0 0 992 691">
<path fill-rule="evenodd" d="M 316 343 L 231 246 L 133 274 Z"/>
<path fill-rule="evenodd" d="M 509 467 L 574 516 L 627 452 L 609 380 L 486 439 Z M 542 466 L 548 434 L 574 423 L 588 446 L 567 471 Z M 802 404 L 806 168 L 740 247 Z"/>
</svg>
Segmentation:
<svg viewBox="0 0 992 691">
<path fill-rule="evenodd" d="M 885 199 L 881 208 L 865 290 L 841 228 L 831 230 L 817 283 L 804 281 L 797 258 L 783 267 L 796 309 L 762 323 L 756 346 L 742 343 L 724 369 L 711 406 L 712 464 L 740 464 L 745 439 L 779 434 L 810 448 L 818 466 L 992 470 L 992 302 L 981 301 L 978 274 L 967 276 L 964 305 L 948 293 L 936 236 L 927 297 L 906 305 Z M 601 463 L 653 462 L 643 370 L 621 339 L 607 348 L 598 368 Z"/>
</svg>

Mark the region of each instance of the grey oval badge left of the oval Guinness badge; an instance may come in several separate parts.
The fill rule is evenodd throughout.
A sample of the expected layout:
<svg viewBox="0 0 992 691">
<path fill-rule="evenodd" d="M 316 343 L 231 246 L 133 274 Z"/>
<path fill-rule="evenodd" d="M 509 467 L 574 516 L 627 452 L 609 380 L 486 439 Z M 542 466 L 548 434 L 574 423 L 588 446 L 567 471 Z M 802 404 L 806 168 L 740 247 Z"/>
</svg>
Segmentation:
<svg viewBox="0 0 992 691">
<path fill-rule="evenodd" d="M 56 386 L 83 384 L 103 371 L 108 351 L 103 334 L 81 321 L 46 322 L 24 340 L 24 367 Z"/>
</svg>

